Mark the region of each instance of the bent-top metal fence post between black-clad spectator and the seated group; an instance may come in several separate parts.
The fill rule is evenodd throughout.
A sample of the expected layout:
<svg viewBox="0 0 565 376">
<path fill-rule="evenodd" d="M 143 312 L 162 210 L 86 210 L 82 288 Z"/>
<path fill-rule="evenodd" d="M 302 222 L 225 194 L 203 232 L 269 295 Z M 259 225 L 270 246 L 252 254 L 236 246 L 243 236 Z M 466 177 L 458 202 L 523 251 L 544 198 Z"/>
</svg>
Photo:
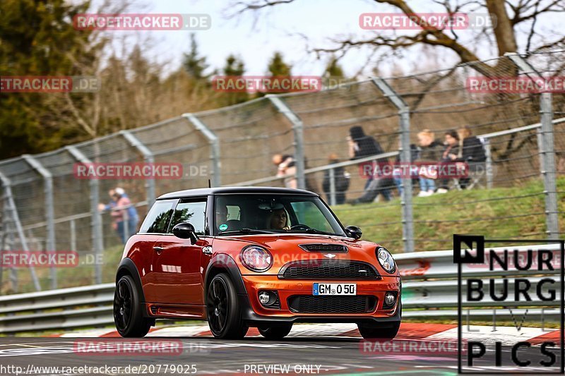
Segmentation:
<svg viewBox="0 0 565 376">
<path fill-rule="evenodd" d="M 373 78 L 373 83 L 398 109 L 400 118 L 400 162 L 410 164 L 410 107 L 400 95 L 382 78 Z M 412 178 L 402 178 L 402 224 L 404 251 L 414 252 L 414 216 L 412 214 Z"/>
</svg>

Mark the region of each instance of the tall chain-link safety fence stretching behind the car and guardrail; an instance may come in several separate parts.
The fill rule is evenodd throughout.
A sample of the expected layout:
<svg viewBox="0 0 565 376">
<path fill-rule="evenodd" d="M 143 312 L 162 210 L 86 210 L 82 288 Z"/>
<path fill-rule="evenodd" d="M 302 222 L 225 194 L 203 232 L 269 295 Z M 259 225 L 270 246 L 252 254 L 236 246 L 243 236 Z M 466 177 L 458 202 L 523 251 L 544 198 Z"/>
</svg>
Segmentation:
<svg viewBox="0 0 565 376">
<path fill-rule="evenodd" d="M 565 51 L 545 51 L 321 92 L 267 95 L 1 161 L 1 249 L 75 251 L 80 260 L 66 269 L 0 265 L 1 291 L 111 281 L 123 250 L 115 214 L 127 219 L 131 213 L 112 210 L 108 193 L 116 187 L 136 208 L 139 220 L 130 226 L 141 224 L 158 195 L 206 187 L 210 180 L 213 186 L 296 183 L 323 195 L 345 225 L 360 226 L 364 238 L 396 252 L 448 249 L 456 233 L 562 238 L 565 94 L 485 92 L 471 85 L 483 78 L 560 77 L 563 61 Z M 352 127 L 362 127 L 385 154 L 352 160 L 347 140 Z M 374 168 L 374 160 L 421 161 L 419 133 L 431 131 L 442 143 L 446 132 L 463 127 L 480 140 L 484 160 L 468 178 L 435 179 L 434 190 L 451 192 L 425 195 L 417 176 L 376 176 L 367 183 L 361 169 L 367 163 Z M 294 156 L 295 175 L 275 176 L 274 154 Z M 441 146 L 440 157 L 444 154 Z M 182 176 L 76 174 L 77 164 L 142 163 L 179 164 Z"/>
</svg>

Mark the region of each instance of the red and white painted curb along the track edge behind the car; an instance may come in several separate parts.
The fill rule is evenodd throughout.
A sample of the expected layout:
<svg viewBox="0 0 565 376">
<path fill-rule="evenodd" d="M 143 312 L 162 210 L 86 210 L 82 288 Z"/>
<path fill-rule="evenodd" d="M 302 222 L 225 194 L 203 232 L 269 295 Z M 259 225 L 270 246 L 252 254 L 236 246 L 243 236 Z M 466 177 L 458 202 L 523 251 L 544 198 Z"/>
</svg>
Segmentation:
<svg viewBox="0 0 565 376">
<path fill-rule="evenodd" d="M 543 341 L 559 342 L 558 329 L 541 329 L 534 327 L 486 327 L 464 326 L 463 337 L 467 341 L 485 341 L 494 343 L 516 343 L 518 341 L 530 341 L 532 344 L 541 344 Z M 456 341 L 458 329 L 456 325 L 447 324 L 425 324 L 416 322 L 403 322 L 397 339 L 425 339 L 430 341 Z M 116 330 L 110 329 L 90 329 L 54 336 L 64 338 L 109 338 L 119 337 Z M 261 336 L 256 328 L 249 329 L 246 337 Z M 341 337 L 360 337 L 357 325 L 355 324 L 296 324 L 292 327 L 289 337 L 308 337 L 313 340 L 316 337 L 323 338 L 328 336 Z M 147 334 L 147 337 L 175 337 L 175 338 L 194 338 L 212 337 L 208 325 L 188 325 L 188 326 L 163 326 L 154 327 Z"/>
</svg>

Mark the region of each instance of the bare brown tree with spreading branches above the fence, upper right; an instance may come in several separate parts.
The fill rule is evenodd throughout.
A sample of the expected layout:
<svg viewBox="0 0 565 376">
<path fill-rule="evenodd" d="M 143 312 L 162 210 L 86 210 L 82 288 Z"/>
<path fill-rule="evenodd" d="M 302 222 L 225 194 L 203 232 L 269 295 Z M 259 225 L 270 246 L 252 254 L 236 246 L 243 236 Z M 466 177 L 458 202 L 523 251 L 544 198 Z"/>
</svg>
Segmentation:
<svg viewBox="0 0 565 376">
<path fill-rule="evenodd" d="M 231 9 L 232 16 L 246 12 L 258 12 L 264 8 L 290 4 L 297 0 L 250 0 L 237 1 Z M 331 37 L 331 47 L 315 47 L 316 54 L 330 53 L 343 56 L 351 49 L 369 47 L 375 51 L 402 51 L 417 45 L 429 45 L 448 49 L 458 56 L 460 63 L 473 63 L 476 71 L 487 75 L 515 74 L 515 68 L 506 59 L 499 59 L 496 66 L 481 62 L 475 48 L 482 42 L 489 43 L 496 54 L 490 57 L 504 56 L 508 52 L 521 52 L 532 54 L 543 49 L 565 45 L 563 30 L 551 33 L 542 32 L 543 25 L 539 19 L 549 13 L 565 13 L 563 0 L 429 0 L 418 1 L 422 5 L 431 4 L 441 7 L 444 13 L 488 13 L 492 19 L 492 27 L 486 26 L 475 30 L 475 35 L 462 38 L 461 30 L 453 28 L 440 29 L 426 22 L 418 13 L 422 9 L 413 8 L 406 0 L 374 0 L 376 10 L 381 10 L 383 5 L 393 8 L 410 16 L 422 28 L 417 32 L 398 33 L 398 30 L 381 32 L 369 38 L 360 39 L 355 36 L 335 38 Z M 465 30 L 467 31 L 467 30 Z M 545 36 L 553 34 L 549 39 Z M 521 46 L 520 39 L 526 43 Z M 522 38 L 523 37 L 523 38 Z M 484 56 L 482 56 L 484 59 Z"/>
</svg>

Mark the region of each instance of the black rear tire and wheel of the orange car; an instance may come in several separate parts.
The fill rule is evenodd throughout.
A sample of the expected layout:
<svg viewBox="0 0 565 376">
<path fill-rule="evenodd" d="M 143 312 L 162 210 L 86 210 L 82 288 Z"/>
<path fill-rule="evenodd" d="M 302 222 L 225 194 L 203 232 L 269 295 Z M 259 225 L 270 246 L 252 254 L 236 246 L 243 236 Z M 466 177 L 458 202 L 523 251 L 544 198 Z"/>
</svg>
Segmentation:
<svg viewBox="0 0 565 376">
<path fill-rule="evenodd" d="M 149 332 L 153 321 L 143 317 L 140 303 L 136 283 L 131 276 L 124 275 L 114 291 L 114 324 L 120 336 L 141 338 Z"/>
</svg>

